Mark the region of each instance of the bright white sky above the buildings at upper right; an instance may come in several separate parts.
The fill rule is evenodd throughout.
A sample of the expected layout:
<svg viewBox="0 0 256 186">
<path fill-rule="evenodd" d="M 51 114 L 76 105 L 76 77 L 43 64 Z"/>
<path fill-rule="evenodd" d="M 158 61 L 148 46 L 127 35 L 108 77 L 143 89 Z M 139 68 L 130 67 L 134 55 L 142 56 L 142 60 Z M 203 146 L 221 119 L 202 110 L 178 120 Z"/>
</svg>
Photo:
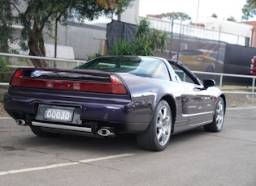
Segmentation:
<svg viewBox="0 0 256 186">
<path fill-rule="evenodd" d="M 215 13 L 218 19 L 232 16 L 240 22 L 243 15 L 241 9 L 245 3 L 246 0 L 140 0 L 139 15 L 184 12 L 191 17 L 193 23 L 200 23 Z"/>
</svg>

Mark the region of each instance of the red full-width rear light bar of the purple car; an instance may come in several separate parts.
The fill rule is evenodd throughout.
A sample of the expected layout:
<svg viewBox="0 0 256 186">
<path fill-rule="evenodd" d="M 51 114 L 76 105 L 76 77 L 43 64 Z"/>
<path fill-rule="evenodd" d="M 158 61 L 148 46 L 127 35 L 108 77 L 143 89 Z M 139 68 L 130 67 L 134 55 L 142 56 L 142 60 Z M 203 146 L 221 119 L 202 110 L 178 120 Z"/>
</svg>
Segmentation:
<svg viewBox="0 0 256 186">
<path fill-rule="evenodd" d="M 65 91 L 85 91 L 106 94 L 127 94 L 124 83 L 114 74 L 110 75 L 111 82 L 81 82 L 47 78 L 23 77 L 23 71 L 17 70 L 11 78 L 11 86 L 54 89 Z"/>
</svg>

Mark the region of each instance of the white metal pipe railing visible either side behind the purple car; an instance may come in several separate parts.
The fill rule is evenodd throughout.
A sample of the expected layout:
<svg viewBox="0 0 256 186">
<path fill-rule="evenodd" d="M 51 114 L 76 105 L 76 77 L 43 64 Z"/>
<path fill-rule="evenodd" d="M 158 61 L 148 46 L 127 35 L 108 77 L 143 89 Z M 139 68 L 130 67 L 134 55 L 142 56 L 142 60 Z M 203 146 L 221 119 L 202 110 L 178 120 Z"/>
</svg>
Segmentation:
<svg viewBox="0 0 256 186">
<path fill-rule="evenodd" d="M 59 59 L 59 58 L 51 58 L 51 57 L 33 57 L 33 56 L 25 56 L 25 55 L 19 55 L 19 54 L 10 54 L 10 53 L 0 53 L 0 57 L 20 57 L 20 58 L 28 58 L 28 59 L 44 59 L 46 61 L 58 61 L 58 62 L 69 62 L 73 63 L 75 66 L 80 65 L 81 63 L 84 63 L 85 61 L 80 60 L 67 60 L 67 59 Z M 20 67 L 20 66 L 16 66 Z M 223 77 L 233 77 L 233 78 L 249 78 L 252 81 L 251 84 L 251 91 L 223 91 L 227 94 L 248 94 L 251 95 L 252 104 L 254 104 L 254 95 L 256 95 L 255 92 L 255 79 L 256 76 L 250 76 L 250 75 L 240 75 L 240 74 L 221 74 L 221 73 L 210 73 L 210 72 L 202 72 L 202 71 L 193 71 L 194 74 L 208 74 L 208 75 L 214 75 L 219 76 L 219 89 L 222 90 L 223 88 Z M 0 82 L 1 85 L 8 85 L 8 82 Z M 238 86 L 238 85 L 237 85 Z"/>
</svg>

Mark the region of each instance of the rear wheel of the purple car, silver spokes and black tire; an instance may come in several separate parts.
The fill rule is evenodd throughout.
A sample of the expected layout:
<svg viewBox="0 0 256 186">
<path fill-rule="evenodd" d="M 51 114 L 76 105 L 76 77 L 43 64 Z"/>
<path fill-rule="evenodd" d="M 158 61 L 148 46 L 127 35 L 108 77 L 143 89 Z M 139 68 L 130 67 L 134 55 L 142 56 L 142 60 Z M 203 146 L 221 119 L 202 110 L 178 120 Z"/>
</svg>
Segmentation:
<svg viewBox="0 0 256 186">
<path fill-rule="evenodd" d="M 155 109 L 153 119 L 144 133 L 137 134 L 138 145 L 145 150 L 161 151 L 166 148 L 171 137 L 171 108 L 161 100 Z"/>
</svg>

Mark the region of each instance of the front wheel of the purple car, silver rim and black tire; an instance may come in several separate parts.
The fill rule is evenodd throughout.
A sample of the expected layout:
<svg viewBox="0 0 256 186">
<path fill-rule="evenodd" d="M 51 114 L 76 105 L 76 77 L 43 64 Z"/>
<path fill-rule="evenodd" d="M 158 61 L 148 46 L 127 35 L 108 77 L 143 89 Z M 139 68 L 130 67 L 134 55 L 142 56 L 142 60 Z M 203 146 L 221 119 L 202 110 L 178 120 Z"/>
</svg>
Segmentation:
<svg viewBox="0 0 256 186">
<path fill-rule="evenodd" d="M 213 121 L 208 125 L 204 125 L 204 129 L 208 132 L 219 132 L 223 127 L 224 115 L 225 104 L 223 98 L 219 97 Z"/>
</svg>

